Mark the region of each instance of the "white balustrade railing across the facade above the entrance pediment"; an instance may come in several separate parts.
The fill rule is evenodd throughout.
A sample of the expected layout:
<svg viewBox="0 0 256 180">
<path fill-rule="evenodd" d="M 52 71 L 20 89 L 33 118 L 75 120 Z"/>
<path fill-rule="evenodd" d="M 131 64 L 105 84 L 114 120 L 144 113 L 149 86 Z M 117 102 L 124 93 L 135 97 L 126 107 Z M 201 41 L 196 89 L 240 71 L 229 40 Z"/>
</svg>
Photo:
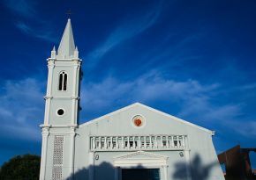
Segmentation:
<svg viewBox="0 0 256 180">
<path fill-rule="evenodd" d="M 184 149 L 186 135 L 91 136 L 91 151 Z"/>
</svg>

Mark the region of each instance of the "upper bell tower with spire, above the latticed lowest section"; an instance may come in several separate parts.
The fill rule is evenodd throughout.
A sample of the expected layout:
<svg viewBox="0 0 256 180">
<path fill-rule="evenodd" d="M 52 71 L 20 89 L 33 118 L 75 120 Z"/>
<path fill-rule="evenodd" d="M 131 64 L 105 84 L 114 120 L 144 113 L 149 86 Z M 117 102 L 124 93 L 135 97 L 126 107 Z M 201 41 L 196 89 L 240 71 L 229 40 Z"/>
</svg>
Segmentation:
<svg viewBox="0 0 256 180">
<path fill-rule="evenodd" d="M 48 59 L 44 126 L 78 125 L 80 64 L 69 18 L 57 52 L 53 47 Z"/>
</svg>

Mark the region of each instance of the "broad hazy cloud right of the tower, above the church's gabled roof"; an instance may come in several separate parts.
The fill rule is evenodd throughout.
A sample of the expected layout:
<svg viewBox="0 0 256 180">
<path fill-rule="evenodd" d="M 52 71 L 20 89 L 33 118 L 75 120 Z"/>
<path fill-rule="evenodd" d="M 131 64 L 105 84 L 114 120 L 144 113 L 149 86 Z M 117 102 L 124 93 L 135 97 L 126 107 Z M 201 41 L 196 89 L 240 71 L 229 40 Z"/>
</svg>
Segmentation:
<svg viewBox="0 0 256 180">
<path fill-rule="evenodd" d="M 109 104 L 165 102 L 181 106 L 179 115 L 189 117 L 194 112 L 199 115 L 202 107 L 204 112 L 213 113 L 209 94 L 218 86 L 202 85 L 196 80 L 179 82 L 165 79 L 161 73 L 153 70 L 127 82 L 108 77 L 101 83 L 86 83 L 82 89 L 82 103 L 87 112 L 93 112 L 94 109 L 108 108 Z"/>
</svg>

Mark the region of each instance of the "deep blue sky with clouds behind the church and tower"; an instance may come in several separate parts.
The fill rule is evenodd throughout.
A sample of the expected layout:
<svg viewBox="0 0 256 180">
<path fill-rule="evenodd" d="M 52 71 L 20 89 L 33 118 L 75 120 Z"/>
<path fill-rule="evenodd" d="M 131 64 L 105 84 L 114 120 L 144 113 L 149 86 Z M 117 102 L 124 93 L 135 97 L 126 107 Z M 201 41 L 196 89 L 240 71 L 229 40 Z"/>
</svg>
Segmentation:
<svg viewBox="0 0 256 180">
<path fill-rule="evenodd" d="M 68 10 L 83 60 L 81 123 L 140 102 L 215 130 L 217 153 L 256 147 L 255 9 L 250 0 L 1 1 L 0 164 L 41 153 L 46 59 Z"/>
</svg>

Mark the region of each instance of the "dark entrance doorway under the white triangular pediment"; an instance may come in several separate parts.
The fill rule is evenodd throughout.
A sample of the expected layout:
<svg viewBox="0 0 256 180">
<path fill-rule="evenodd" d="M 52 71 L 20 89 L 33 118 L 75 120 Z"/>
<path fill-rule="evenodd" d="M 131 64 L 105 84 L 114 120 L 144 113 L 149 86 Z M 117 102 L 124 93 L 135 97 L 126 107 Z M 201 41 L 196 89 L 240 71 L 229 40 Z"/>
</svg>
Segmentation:
<svg viewBox="0 0 256 180">
<path fill-rule="evenodd" d="M 122 169 L 122 180 L 160 180 L 160 170 Z"/>
</svg>

